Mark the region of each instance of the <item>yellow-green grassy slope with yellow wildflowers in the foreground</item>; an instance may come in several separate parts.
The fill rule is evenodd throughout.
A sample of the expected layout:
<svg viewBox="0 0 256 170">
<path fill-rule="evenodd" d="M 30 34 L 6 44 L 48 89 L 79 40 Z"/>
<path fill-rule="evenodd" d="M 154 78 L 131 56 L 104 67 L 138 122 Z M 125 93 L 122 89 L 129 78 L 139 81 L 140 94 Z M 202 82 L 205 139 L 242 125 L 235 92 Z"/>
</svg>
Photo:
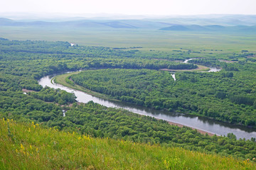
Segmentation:
<svg viewBox="0 0 256 170">
<path fill-rule="evenodd" d="M 0 120 L 0 169 L 255 169 L 255 162 Z"/>
</svg>

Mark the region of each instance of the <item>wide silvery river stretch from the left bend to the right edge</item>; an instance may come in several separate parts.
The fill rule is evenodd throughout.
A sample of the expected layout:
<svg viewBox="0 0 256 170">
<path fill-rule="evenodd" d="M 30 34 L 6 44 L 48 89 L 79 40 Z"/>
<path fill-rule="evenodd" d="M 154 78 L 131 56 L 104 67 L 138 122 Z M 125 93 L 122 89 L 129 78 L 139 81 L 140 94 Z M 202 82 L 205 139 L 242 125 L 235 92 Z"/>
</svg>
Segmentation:
<svg viewBox="0 0 256 170">
<path fill-rule="evenodd" d="M 68 73 L 68 72 L 66 72 Z M 223 123 L 218 120 L 210 120 L 208 118 L 198 117 L 195 115 L 186 115 L 183 113 L 171 113 L 168 111 L 158 111 L 151 108 L 145 108 L 142 106 L 136 106 L 131 103 L 124 103 L 118 101 L 109 101 L 107 99 L 98 98 L 85 94 L 82 91 L 77 91 L 75 89 L 70 89 L 68 87 L 62 86 L 60 84 L 54 84 L 51 79 L 56 76 L 46 76 L 41 78 L 38 83 L 41 86 L 49 86 L 54 89 L 62 89 L 68 92 L 73 92 L 77 96 L 76 100 L 81 103 L 87 103 L 88 101 L 93 101 L 95 103 L 100 103 L 103 106 L 113 107 L 113 108 L 124 108 L 133 113 L 138 113 L 140 115 L 149 115 L 154 118 L 167 120 L 173 123 L 178 123 L 181 125 L 186 125 L 191 128 L 196 128 L 198 130 L 203 130 L 216 135 L 227 135 L 232 132 L 237 136 L 237 138 L 245 138 L 250 140 L 251 137 L 256 138 L 256 130 L 251 128 L 246 128 L 240 125 L 231 125 L 230 123 Z"/>
</svg>

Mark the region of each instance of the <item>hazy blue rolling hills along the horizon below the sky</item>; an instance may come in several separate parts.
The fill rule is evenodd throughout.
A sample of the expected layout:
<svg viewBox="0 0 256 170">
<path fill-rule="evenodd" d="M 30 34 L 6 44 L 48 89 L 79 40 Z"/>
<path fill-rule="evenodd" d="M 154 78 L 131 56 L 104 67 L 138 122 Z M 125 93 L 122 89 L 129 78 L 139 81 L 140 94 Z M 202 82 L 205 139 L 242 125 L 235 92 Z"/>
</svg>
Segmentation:
<svg viewBox="0 0 256 170">
<path fill-rule="evenodd" d="M 0 15 L 1 16 L 1 15 Z M 0 18 L 0 26 L 32 27 L 32 28 L 97 28 L 97 29 L 137 29 L 148 28 L 164 31 L 224 31 L 224 32 L 256 32 L 256 16 L 248 15 L 204 15 L 204 16 L 163 16 L 162 18 L 142 18 L 142 16 L 125 16 L 123 19 L 70 17 L 39 18 L 36 21 L 12 20 Z"/>
</svg>

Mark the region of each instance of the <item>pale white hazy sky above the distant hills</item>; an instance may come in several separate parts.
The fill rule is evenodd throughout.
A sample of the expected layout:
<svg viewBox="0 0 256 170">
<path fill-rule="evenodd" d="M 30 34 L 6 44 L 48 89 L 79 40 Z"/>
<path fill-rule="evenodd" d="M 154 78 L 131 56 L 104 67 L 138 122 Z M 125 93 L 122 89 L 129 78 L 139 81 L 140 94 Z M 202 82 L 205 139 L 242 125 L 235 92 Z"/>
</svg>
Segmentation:
<svg viewBox="0 0 256 170">
<path fill-rule="evenodd" d="M 256 0 L 1 0 L 0 13 L 256 14 Z"/>
</svg>

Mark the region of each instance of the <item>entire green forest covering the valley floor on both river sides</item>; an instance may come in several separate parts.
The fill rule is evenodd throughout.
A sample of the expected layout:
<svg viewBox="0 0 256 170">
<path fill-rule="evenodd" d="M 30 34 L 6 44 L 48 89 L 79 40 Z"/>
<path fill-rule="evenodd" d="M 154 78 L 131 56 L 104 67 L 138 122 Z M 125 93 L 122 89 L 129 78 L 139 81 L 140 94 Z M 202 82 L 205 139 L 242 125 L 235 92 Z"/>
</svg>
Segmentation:
<svg viewBox="0 0 256 170">
<path fill-rule="evenodd" d="M 236 139 L 233 134 L 210 137 L 191 128 L 179 128 L 164 120 L 107 108 L 92 101 L 78 103 L 74 94 L 38 84 L 38 79 L 49 74 L 85 69 L 70 76 L 68 83 L 107 94 L 119 101 L 255 128 L 255 61 L 249 60 L 245 52 L 232 53 L 230 58 L 230 54 L 226 56 L 226 51 L 223 51 L 219 57 L 181 63 L 196 54 L 191 50 L 159 52 L 136 48 L 72 47 L 69 42 L 1 38 L 0 116 L 5 120 L 38 123 L 42 128 L 99 139 L 109 137 L 167 148 L 182 147 L 252 160 L 256 157 L 253 137 L 250 140 Z M 238 61 L 226 63 L 220 60 Z M 159 71 L 196 69 L 201 64 L 221 67 L 222 70 L 176 72 L 176 81 L 169 72 Z M 24 94 L 24 89 L 29 92 Z M 67 111 L 65 116 L 63 110 Z M 20 145 L 11 132 L 8 137 Z"/>
</svg>

